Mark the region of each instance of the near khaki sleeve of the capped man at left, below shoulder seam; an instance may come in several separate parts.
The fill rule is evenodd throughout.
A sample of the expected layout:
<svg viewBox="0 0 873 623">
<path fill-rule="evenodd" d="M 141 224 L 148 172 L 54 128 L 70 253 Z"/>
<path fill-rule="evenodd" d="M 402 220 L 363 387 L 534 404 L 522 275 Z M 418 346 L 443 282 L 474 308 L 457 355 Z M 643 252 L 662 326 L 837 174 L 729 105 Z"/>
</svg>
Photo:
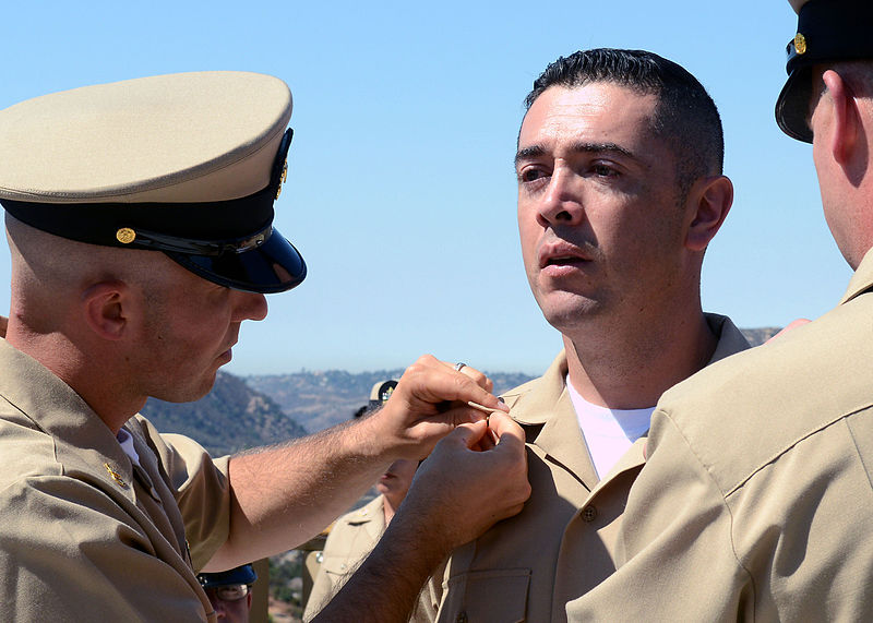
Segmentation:
<svg viewBox="0 0 873 623">
<path fill-rule="evenodd" d="M 171 546 L 156 551 L 163 543 L 98 488 L 22 479 L 0 491 L 0 620 L 207 620 L 184 575 L 162 560 L 182 564 Z"/>
</svg>

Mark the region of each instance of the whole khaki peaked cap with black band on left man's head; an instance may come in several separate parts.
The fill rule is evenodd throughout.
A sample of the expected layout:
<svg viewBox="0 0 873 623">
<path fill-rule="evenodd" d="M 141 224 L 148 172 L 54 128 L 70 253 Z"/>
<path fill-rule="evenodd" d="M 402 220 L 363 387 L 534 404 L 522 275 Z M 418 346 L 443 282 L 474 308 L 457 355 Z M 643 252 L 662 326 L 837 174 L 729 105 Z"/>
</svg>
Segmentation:
<svg viewBox="0 0 873 623">
<path fill-rule="evenodd" d="M 273 229 L 291 94 L 248 72 L 85 86 L 0 110 L 0 204 L 81 242 L 163 251 L 217 284 L 290 289 L 306 264 Z"/>
</svg>

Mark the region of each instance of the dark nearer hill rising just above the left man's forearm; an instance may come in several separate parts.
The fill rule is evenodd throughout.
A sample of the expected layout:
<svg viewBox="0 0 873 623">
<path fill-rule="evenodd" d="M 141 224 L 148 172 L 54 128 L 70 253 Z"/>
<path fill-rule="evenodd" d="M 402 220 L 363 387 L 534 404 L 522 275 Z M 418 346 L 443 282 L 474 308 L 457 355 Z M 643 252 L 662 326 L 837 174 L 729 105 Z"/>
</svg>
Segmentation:
<svg viewBox="0 0 873 623">
<path fill-rule="evenodd" d="M 150 398 L 142 414 L 160 432 L 186 434 L 213 456 L 307 434 L 272 398 L 227 372 L 218 372 L 212 392 L 195 403 Z"/>
</svg>

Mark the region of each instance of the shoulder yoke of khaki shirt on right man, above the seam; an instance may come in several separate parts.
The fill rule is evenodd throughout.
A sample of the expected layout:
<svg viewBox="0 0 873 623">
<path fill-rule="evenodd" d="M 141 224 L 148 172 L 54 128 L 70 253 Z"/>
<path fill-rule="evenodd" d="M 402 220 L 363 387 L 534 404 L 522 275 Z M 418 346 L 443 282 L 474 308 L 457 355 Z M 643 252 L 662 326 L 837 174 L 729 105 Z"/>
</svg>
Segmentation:
<svg viewBox="0 0 873 623">
<path fill-rule="evenodd" d="M 679 434 L 725 489 L 800 440 L 869 408 L 873 324 L 864 305 L 841 305 L 813 323 L 707 367 L 663 394 L 649 452 Z"/>
</svg>

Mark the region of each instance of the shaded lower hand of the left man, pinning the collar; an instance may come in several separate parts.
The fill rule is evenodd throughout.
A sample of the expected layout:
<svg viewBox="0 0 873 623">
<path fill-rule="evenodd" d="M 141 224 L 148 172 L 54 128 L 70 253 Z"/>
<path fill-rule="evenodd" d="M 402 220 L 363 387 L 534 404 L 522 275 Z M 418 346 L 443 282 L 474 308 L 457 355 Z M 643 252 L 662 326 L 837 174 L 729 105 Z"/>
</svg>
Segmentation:
<svg viewBox="0 0 873 623">
<path fill-rule="evenodd" d="M 461 424 L 438 443 L 400 505 L 444 554 L 519 513 L 530 495 L 522 428 L 499 412 L 489 420 Z"/>
</svg>

